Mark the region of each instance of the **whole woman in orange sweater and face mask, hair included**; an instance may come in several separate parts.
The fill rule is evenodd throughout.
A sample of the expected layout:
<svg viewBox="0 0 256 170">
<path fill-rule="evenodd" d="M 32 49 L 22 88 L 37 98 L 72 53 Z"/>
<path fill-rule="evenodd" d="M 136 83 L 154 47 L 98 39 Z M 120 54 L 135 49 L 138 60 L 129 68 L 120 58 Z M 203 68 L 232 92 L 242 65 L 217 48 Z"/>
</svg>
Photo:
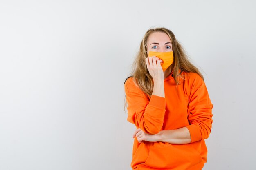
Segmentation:
<svg viewBox="0 0 256 170">
<path fill-rule="evenodd" d="M 204 78 L 172 31 L 149 29 L 124 82 L 135 124 L 133 170 L 201 170 L 213 104 Z"/>
</svg>

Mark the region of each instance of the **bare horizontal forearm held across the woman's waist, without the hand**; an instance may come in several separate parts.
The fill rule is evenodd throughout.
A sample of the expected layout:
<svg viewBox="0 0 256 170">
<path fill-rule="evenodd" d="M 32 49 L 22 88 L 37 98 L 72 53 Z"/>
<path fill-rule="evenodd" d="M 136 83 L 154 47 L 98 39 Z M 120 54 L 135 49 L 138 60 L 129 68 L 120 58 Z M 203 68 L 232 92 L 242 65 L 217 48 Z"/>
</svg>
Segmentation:
<svg viewBox="0 0 256 170">
<path fill-rule="evenodd" d="M 157 141 L 168 142 L 170 144 L 191 143 L 190 133 L 186 127 L 175 130 L 162 130 L 155 135 L 157 135 Z"/>
</svg>

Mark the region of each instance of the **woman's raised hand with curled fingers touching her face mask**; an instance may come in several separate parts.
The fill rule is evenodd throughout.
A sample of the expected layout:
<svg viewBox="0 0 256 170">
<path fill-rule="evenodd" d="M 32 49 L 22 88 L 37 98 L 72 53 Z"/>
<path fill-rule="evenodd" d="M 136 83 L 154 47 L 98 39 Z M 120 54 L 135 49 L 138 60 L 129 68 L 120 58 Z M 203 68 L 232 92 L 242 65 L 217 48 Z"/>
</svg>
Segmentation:
<svg viewBox="0 0 256 170">
<path fill-rule="evenodd" d="M 161 62 L 163 62 L 163 61 L 156 56 L 147 57 L 145 61 L 147 64 L 149 74 L 153 78 L 154 82 L 157 82 L 157 81 L 163 82 L 164 81 L 164 71 L 161 66 Z"/>
</svg>

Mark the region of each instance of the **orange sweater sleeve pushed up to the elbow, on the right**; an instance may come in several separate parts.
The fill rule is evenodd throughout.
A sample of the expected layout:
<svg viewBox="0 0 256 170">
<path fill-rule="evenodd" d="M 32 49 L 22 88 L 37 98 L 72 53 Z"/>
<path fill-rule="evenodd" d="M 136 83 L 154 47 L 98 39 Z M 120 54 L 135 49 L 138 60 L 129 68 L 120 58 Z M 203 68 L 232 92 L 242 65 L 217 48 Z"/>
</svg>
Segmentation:
<svg viewBox="0 0 256 170">
<path fill-rule="evenodd" d="M 213 122 L 212 108 L 204 81 L 194 81 L 187 108 L 190 125 L 186 126 L 190 132 L 191 143 L 209 137 Z"/>
</svg>

